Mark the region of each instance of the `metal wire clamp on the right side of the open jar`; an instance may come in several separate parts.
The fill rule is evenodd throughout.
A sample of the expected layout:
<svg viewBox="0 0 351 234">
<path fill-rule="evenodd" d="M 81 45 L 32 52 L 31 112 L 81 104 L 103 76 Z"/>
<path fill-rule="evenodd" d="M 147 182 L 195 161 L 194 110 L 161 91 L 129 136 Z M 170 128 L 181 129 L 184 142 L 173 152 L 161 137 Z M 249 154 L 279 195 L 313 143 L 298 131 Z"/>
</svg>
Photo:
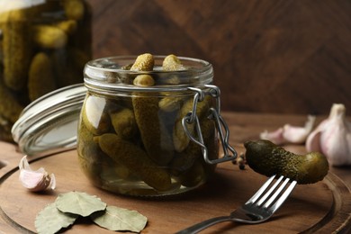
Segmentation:
<svg viewBox="0 0 351 234">
<path fill-rule="evenodd" d="M 189 139 L 193 140 L 194 143 L 198 144 L 202 148 L 203 159 L 208 164 L 218 164 L 221 162 L 231 161 L 238 157 L 237 151 L 229 145 L 229 128 L 227 123 L 220 116 L 220 88 L 216 85 L 205 85 L 208 90 L 202 90 L 200 88 L 189 87 L 190 90 L 194 91 L 195 94 L 193 96 L 193 110 L 188 112 L 183 120 L 182 125 L 185 131 L 185 134 L 189 137 Z M 207 147 L 204 144 L 202 138 L 202 130 L 200 127 L 199 118 L 196 115 L 197 103 L 202 102 L 205 95 L 211 95 L 216 100 L 215 108 L 210 108 L 209 119 L 215 121 L 216 128 L 218 130 L 221 146 L 223 148 L 224 156 L 217 159 L 210 159 L 208 155 Z M 188 129 L 187 125 L 195 123 L 195 130 L 198 136 L 198 139 L 195 139 Z M 223 131 L 224 130 L 224 131 Z M 229 151 L 232 155 L 229 154 Z"/>
</svg>

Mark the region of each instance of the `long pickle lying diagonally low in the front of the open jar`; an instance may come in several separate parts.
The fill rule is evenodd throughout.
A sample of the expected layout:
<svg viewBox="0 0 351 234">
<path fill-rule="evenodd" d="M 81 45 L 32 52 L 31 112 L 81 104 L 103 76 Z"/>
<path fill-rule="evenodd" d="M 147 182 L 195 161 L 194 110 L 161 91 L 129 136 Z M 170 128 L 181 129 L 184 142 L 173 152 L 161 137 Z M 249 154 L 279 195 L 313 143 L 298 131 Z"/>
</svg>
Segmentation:
<svg viewBox="0 0 351 234">
<path fill-rule="evenodd" d="M 121 165 L 127 166 L 130 173 L 139 175 L 150 187 L 157 191 L 166 191 L 172 187 L 171 177 L 166 169 L 157 166 L 138 146 L 112 133 L 95 138 L 104 153 Z"/>
</svg>

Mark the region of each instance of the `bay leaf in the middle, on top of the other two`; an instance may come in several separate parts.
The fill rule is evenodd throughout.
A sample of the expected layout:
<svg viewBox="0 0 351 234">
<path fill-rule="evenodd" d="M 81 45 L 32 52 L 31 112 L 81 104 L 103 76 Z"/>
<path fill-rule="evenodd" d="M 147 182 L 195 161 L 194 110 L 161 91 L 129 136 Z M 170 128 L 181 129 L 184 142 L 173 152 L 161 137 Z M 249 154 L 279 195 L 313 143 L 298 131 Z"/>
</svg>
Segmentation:
<svg viewBox="0 0 351 234">
<path fill-rule="evenodd" d="M 80 192 L 58 194 L 55 203 L 59 211 L 79 214 L 83 217 L 106 208 L 106 203 L 97 196 Z"/>
</svg>

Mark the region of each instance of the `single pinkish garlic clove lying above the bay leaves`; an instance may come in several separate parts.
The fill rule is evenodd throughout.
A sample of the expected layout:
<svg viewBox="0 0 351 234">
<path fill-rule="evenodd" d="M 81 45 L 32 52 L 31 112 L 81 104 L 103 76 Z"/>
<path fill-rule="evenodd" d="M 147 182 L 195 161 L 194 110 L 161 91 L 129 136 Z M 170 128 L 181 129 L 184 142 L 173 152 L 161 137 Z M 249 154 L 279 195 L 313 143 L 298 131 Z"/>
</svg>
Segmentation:
<svg viewBox="0 0 351 234">
<path fill-rule="evenodd" d="M 55 175 L 49 175 L 44 168 L 40 167 L 34 171 L 28 163 L 27 156 L 24 156 L 20 161 L 20 181 L 23 186 L 32 192 L 43 191 L 47 188 L 55 189 Z"/>
</svg>

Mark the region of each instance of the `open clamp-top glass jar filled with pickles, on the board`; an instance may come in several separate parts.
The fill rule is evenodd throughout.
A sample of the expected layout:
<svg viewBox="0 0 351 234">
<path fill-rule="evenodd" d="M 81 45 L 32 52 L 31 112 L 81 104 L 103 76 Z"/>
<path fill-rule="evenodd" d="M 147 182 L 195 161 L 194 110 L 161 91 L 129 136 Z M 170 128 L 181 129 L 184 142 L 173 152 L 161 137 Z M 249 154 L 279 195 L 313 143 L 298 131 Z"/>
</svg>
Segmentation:
<svg viewBox="0 0 351 234">
<path fill-rule="evenodd" d="M 211 64 L 179 58 L 185 69 L 164 71 L 164 58 L 154 57 L 148 72 L 125 68 L 136 57 L 99 58 L 85 65 L 77 152 L 94 185 L 139 196 L 183 193 L 204 184 L 216 163 L 236 157 L 229 134 L 222 132 Z M 152 76 L 155 84 L 133 85 L 139 75 Z"/>
</svg>

